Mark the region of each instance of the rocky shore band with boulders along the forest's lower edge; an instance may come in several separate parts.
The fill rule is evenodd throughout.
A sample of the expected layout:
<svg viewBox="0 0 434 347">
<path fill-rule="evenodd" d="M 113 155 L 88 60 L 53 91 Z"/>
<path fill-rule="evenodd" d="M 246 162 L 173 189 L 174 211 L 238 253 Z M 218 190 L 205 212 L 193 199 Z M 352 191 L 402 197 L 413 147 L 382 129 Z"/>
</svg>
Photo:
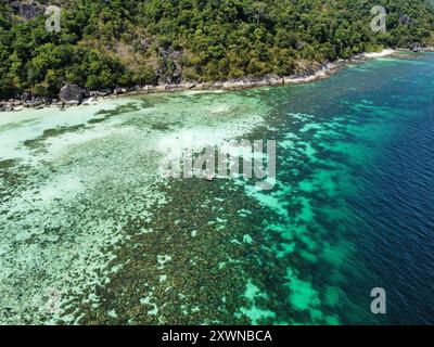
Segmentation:
<svg viewBox="0 0 434 347">
<path fill-rule="evenodd" d="M 251 88 L 260 87 L 272 87 L 283 85 L 297 85 L 308 83 L 318 81 L 321 79 L 329 78 L 330 76 L 337 73 L 340 69 L 346 67 L 349 64 L 362 64 L 365 61 L 370 59 L 379 59 L 400 52 L 411 52 L 409 49 L 383 49 L 380 52 L 369 52 L 354 55 L 349 59 L 340 59 L 332 63 L 318 64 L 317 68 L 312 68 L 309 74 L 292 75 L 292 76 L 275 76 L 267 75 L 264 77 L 245 77 L 239 79 L 230 79 L 227 81 L 215 81 L 215 82 L 180 82 L 175 85 L 158 85 L 158 86 L 136 86 L 133 88 L 115 88 L 104 89 L 97 91 L 84 91 L 80 89 L 80 93 L 86 97 L 82 100 L 73 102 L 63 102 L 60 99 L 47 99 L 47 98 L 33 98 L 33 101 L 23 99 L 10 99 L 8 101 L 0 101 L 0 112 L 20 112 L 26 108 L 41 110 L 44 107 L 59 107 L 64 110 L 69 106 L 78 105 L 90 105 L 101 100 L 114 99 L 114 98 L 126 98 L 132 95 L 143 95 L 151 93 L 164 93 L 164 92 L 182 92 L 188 90 L 194 91 L 233 91 L 243 90 Z M 434 47 L 420 48 L 418 52 L 434 52 Z M 76 86 L 74 86 L 76 87 Z M 77 86 L 78 87 L 78 86 Z M 79 87 L 78 87 L 79 88 Z"/>
</svg>

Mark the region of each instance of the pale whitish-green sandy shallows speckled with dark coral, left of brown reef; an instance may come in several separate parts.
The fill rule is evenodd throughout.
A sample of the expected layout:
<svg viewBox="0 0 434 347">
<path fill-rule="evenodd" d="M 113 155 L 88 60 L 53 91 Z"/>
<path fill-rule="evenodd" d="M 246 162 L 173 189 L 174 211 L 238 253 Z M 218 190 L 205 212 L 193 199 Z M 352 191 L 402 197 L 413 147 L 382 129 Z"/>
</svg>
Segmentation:
<svg viewBox="0 0 434 347">
<path fill-rule="evenodd" d="M 74 323 L 78 304 L 98 306 L 95 285 L 122 271 L 107 248 L 166 202 L 173 150 L 222 144 L 265 112 L 237 93 L 180 93 L 0 114 L 0 323 Z"/>
</svg>

